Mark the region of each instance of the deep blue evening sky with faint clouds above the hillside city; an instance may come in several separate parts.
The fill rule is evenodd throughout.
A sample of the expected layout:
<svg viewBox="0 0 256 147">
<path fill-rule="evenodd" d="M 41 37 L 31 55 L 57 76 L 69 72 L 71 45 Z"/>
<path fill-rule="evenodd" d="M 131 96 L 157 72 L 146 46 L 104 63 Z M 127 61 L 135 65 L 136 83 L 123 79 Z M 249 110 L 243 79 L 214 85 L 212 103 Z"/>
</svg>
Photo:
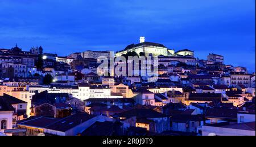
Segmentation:
<svg viewBox="0 0 256 147">
<path fill-rule="evenodd" d="M 0 48 L 61 56 L 121 50 L 140 36 L 255 71 L 255 0 L 0 0 Z"/>
</svg>

